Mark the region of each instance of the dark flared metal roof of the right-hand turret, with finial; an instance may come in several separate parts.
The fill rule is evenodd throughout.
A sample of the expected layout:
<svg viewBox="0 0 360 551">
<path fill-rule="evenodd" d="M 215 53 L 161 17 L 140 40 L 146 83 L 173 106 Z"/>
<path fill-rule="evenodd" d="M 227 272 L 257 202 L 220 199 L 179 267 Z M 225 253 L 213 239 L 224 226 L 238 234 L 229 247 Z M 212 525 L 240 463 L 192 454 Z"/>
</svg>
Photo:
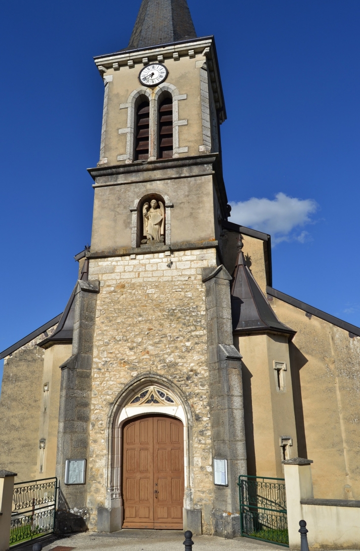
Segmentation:
<svg viewBox="0 0 360 551">
<path fill-rule="evenodd" d="M 281 323 L 246 266 L 239 241 L 231 287 L 232 329 L 235 333 L 275 332 L 293 336 L 296 331 Z"/>
</svg>

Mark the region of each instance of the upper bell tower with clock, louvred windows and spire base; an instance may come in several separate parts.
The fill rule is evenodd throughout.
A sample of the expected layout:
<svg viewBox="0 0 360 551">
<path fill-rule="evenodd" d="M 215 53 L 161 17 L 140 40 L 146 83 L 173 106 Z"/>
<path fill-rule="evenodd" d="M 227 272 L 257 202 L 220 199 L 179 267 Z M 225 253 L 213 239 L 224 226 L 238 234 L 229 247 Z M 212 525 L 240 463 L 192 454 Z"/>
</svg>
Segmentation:
<svg viewBox="0 0 360 551">
<path fill-rule="evenodd" d="M 164 227 L 148 242 L 168 251 L 213 246 L 227 218 L 213 36 L 196 37 L 186 0 L 143 0 L 128 48 L 95 63 L 105 95 L 100 160 L 89 170 L 92 255 L 143 251 L 151 201 L 163 205 Z"/>
</svg>

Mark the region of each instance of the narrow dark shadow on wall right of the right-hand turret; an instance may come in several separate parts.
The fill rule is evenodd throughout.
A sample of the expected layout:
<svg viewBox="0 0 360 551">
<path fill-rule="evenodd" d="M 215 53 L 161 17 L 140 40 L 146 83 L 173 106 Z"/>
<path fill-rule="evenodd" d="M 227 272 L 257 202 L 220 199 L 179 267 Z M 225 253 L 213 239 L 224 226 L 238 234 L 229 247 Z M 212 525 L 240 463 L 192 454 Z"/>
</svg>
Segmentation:
<svg viewBox="0 0 360 551">
<path fill-rule="evenodd" d="M 290 370 L 292 381 L 292 399 L 295 413 L 297 455 L 307 459 L 306 434 L 304 425 L 304 412 L 302 408 L 300 370 L 307 364 L 307 358 L 300 352 L 296 345 L 289 343 Z"/>
</svg>

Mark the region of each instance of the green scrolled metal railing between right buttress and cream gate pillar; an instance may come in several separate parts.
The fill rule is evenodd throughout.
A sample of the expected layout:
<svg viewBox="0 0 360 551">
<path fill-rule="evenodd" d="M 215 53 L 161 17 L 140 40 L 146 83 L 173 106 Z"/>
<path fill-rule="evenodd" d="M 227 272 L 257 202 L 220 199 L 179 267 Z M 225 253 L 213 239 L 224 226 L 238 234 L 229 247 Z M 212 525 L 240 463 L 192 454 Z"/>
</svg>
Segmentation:
<svg viewBox="0 0 360 551">
<path fill-rule="evenodd" d="M 239 477 L 241 535 L 289 547 L 284 478 Z"/>
</svg>

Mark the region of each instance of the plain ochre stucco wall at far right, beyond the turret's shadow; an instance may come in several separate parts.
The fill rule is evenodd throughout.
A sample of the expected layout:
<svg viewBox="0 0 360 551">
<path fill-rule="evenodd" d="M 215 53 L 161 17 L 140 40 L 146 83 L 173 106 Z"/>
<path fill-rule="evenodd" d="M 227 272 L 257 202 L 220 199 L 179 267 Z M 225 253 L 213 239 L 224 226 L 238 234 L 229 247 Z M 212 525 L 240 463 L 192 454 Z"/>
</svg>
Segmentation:
<svg viewBox="0 0 360 551">
<path fill-rule="evenodd" d="M 290 362 L 298 453 L 314 461 L 314 497 L 360 499 L 360 338 L 279 299 L 276 315 L 297 331 Z"/>
</svg>

